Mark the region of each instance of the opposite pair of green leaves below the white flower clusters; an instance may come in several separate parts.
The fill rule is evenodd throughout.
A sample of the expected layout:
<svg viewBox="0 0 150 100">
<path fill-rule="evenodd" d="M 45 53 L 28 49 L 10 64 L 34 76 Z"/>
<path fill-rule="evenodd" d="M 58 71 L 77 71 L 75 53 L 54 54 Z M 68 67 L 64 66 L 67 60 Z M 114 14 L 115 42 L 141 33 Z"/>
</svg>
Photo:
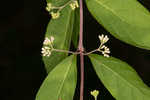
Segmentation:
<svg viewBox="0 0 150 100">
<path fill-rule="evenodd" d="M 106 58 L 96 54 L 90 54 L 89 57 L 99 79 L 114 98 L 149 100 L 150 88 L 128 64 L 113 57 Z M 77 84 L 76 63 L 75 55 L 59 63 L 43 82 L 36 100 L 73 100 Z M 121 90 L 123 91 L 120 92 Z"/>
</svg>

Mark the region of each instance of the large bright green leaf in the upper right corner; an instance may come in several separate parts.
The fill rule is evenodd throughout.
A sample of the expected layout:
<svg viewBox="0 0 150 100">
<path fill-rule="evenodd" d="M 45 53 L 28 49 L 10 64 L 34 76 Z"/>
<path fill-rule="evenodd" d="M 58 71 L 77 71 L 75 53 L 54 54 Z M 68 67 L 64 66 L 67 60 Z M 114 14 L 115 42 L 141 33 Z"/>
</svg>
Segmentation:
<svg viewBox="0 0 150 100">
<path fill-rule="evenodd" d="M 86 4 L 113 36 L 150 50 L 150 13 L 137 0 L 86 0 Z"/>
</svg>

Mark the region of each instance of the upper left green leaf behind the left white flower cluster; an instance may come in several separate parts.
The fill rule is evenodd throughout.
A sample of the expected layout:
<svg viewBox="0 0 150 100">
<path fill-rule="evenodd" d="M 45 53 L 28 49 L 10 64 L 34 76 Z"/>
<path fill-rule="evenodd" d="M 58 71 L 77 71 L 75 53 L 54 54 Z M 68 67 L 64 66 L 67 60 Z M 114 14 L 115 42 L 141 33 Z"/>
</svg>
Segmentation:
<svg viewBox="0 0 150 100">
<path fill-rule="evenodd" d="M 70 48 L 73 32 L 74 11 L 70 6 L 60 12 L 58 19 L 52 19 L 48 24 L 46 37 L 53 36 L 54 48 L 68 50 Z M 60 61 L 67 57 L 67 53 L 52 52 L 50 57 L 43 57 L 47 73 L 49 73 Z"/>
</svg>

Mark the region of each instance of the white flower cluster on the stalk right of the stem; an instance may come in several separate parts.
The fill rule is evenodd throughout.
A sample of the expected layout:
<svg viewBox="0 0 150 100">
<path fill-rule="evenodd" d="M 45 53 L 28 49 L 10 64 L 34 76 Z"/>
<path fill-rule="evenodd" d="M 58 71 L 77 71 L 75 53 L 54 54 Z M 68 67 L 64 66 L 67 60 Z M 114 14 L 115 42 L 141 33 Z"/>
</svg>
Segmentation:
<svg viewBox="0 0 150 100">
<path fill-rule="evenodd" d="M 109 38 L 107 37 L 107 35 L 99 35 L 99 40 L 100 40 L 100 46 L 98 48 L 98 50 L 104 55 L 104 57 L 109 57 L 110 54 L 110 50 L 107 46 L 105 46 L 104 44 L 109 40 Z"/>
</svg>

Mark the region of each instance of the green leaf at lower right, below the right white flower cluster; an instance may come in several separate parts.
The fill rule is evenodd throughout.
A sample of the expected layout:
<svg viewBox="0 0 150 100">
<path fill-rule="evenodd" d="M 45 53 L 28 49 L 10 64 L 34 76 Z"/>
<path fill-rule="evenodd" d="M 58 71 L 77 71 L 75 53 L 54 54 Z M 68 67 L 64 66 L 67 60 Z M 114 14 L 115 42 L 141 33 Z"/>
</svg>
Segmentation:
<svg viewBox="0 0 150 100">
<path fill-rule="evenodd" d="M 116 100 L 150 99 L 150 88 L 127 63 L 113 57 L 89 57 L 98 77 Z"/>
</svg>

